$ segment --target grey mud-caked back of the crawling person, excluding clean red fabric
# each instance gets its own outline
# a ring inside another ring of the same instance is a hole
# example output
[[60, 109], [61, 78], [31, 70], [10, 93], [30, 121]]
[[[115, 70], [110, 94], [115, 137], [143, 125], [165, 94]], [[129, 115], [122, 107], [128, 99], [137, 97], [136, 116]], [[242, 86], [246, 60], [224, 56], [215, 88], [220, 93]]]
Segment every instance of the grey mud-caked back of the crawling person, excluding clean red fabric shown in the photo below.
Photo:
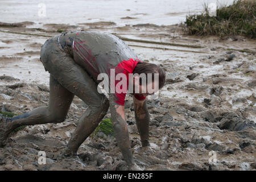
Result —
[[[122, 61], [138, 60], [137, 55], [123, 40], [105, 32], [68, 32], [59, 36], [59, 42], [96, 82], [99, 82], [98, 74], [107, 73], [110, 76], [110, 69], [117, 67]], [[121, 72], [122, 70], [118, 70], [117, 73]]]

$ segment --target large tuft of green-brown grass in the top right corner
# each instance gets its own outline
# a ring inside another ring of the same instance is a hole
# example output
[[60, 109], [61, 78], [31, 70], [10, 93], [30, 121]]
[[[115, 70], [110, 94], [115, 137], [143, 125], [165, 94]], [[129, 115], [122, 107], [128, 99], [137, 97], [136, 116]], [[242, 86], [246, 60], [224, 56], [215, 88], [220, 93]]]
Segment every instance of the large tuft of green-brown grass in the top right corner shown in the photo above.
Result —
[[243, 35], [256, 38], [256, 1], [237, 0], [233, 5], [217, 7], [217, 16], [209, 16], [207, 5], [204, 13], [188, 15], [183, 30], [189, 35]]

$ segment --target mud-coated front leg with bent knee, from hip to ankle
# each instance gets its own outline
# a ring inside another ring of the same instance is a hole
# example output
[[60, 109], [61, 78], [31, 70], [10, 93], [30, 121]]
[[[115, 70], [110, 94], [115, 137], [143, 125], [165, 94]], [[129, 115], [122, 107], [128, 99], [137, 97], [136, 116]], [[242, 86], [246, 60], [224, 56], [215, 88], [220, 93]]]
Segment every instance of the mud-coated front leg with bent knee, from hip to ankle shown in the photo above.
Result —
[[41, 61], [51, 75], [69, 92], [88, 105], [82, 115], [75, 132], [69, 140], [67, 154], [76, 154], [81, 143], [96, 129], [109, 109], [108, 98], [97, 91], [97, 84], [93, 78], [79, 64], [59, 46], [57, 36], [42, 46]]

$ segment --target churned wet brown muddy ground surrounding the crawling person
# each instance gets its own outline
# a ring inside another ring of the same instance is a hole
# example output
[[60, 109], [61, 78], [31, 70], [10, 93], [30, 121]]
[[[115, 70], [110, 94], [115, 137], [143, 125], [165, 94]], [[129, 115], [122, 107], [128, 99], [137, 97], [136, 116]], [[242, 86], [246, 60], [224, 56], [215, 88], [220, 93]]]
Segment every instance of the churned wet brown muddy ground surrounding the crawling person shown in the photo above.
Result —
[[[256, 169], [255, 40], [187, 36], [177, 25], [119, 27], [114, 22], [96, 22], [31, 28], [32, 24], [0, 27], [0, 111], [22, 114], [48, 104], [49, 74], [39, 54], [47, 36], [59, 34], [57, 30], [106, 31], [130, 39], [201, 46], [125, 41], [141, 60], [159, 64], [167, 73], [159, 97], [147, 101], [151, 150], [141, 151], [132, 100], [126, 97], [135, 161], [146, 170]], [[59, 158], [85, 110], [84, 102], [75, 97], [63, 123], [13, 132], [0, 148], [0, 170], [125, 170], [115, 138], [103, 133], [86, 139], [77, 157]], [[105, 118], [109, 117], [108, 113]], [[39, 151], [46, 151], [46, 165], [38, 164]], [[216, 160], [209, 162], [212, 154]]]

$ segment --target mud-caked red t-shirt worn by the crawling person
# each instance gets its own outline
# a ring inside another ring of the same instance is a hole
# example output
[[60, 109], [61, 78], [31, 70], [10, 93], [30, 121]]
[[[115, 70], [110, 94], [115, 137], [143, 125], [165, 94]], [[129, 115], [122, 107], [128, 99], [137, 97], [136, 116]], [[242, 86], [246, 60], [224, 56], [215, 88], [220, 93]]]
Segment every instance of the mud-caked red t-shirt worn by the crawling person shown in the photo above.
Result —
[[[114, 69], [115, 76], [118, 73], [126, 75], [128, 88], [129, 73], [133, 73], [140, 60], [123, 40], [112, 34], [96, 31], [75, 32], [72, 35], [73, 59], [92, 76], [94, 81], [101, 82], [101, 80], [97, 80], [100, 73], [106, 73], [110, 78], [110, 69]], [[117, 83], [118, 81], [115, 80], [115, 86]], [[126, 92], [127, 89], [122, 90], [121, 93], [114, 93], [115, 102], [118, 105], [125, 104]], [[138, 100], [145, 99], [137, 94], [134, 96]]]

